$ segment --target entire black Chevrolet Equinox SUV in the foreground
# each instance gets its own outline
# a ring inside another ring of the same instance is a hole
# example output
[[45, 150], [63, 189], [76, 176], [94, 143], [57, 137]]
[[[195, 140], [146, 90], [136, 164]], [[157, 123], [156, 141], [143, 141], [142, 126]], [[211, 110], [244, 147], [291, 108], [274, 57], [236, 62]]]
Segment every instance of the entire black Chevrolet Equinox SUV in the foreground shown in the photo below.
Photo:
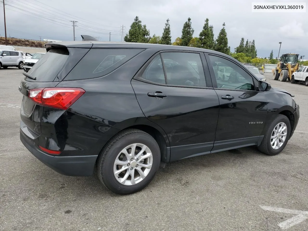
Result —
[[96, 169], [114, 193], [141, 190], [170, 161], [251, 145], [276, 155], [298, 124], [293, 95], [216, 51], [99, 41], [45, 47], [19, 86], [20, 139], [61, 174]]

